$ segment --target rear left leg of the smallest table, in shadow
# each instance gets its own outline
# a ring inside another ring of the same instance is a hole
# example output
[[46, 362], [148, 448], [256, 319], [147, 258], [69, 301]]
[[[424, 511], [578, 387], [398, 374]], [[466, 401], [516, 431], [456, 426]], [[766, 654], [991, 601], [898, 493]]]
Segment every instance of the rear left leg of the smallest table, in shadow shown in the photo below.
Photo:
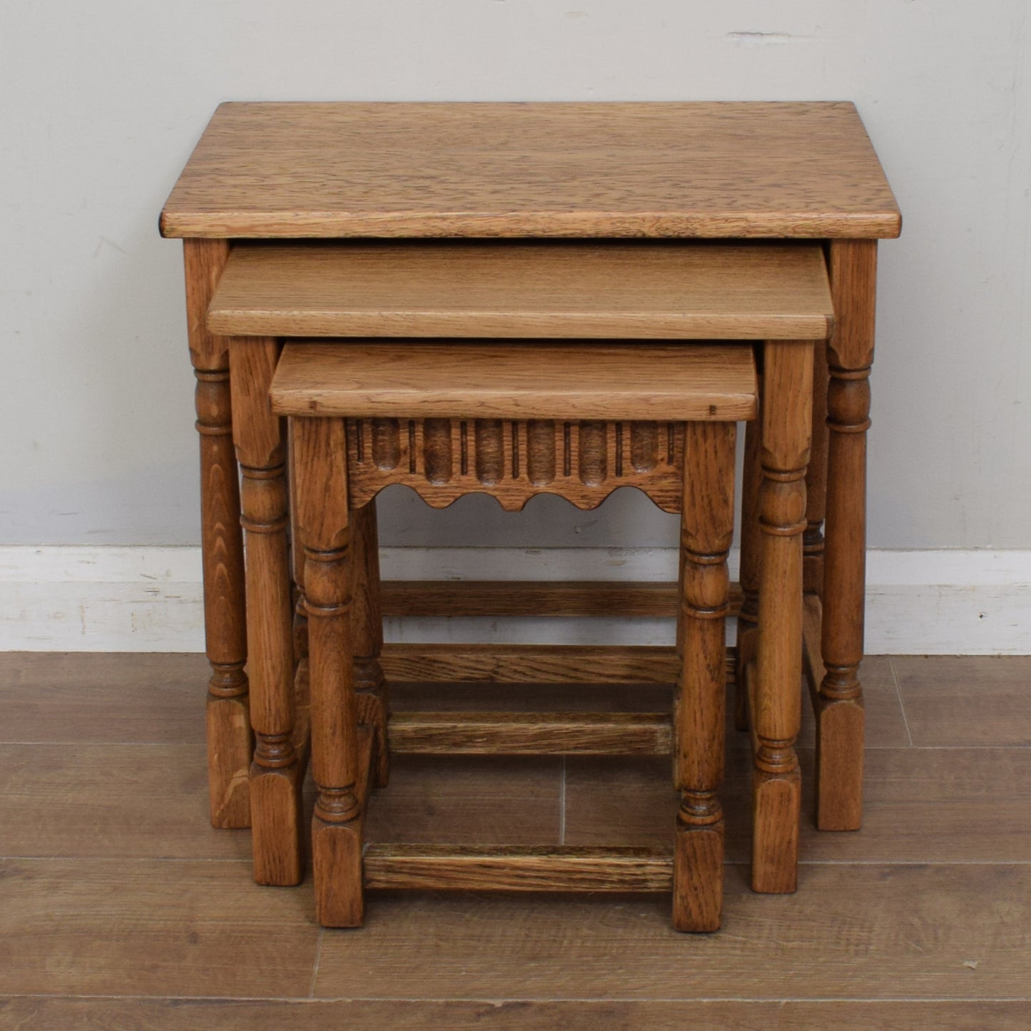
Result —
[[379, 542], [375, 499], [351, 513], [354, 558], [355, 691], [358, 718], [373, 728], [375, 787], [390, 779], [387, 747], [387, 681], [379, 653], [384, 646], [384, 621], [379, 607]]

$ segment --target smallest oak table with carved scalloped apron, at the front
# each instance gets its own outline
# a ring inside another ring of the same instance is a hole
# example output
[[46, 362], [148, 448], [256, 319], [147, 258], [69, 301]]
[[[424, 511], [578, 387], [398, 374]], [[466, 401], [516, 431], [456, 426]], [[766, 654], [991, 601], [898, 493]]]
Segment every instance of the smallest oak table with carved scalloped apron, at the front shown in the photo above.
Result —
[[[579, 391], [585, 397], [584, 410], [576, 408], [575, 400], [565, 401], [568, 407], [559, 409], [572, 409], [575, 415], [584, 417], [577, 435], [576, 467], [580, 485], [595, 486], [605, 479], [608, 445], [612, 441], [617, 446], [619, 473], [625, 457], [620, 447], [623, 436], [630, 441], [630, 461], [637, 458], [638, 452], [648, 452], [651, 463], [639, 463], [639, 467], [643, 465], [643, 472], [662, 477], [665, 473], [655, 454], [658, 440], [654, 432], [648, 437], [650, 448], [635, 450], [635, 424], [628, 424], [626, 432], [621, 433], [621, 424], [613, 429], [600, 421], [607, 415], [606, 406], [611, 403], [606, 388], [609, 383], [625, 379], [641, 369], [653, 375], [666, 368], [670, 369], [667, 375], [675, 369], [690, 373], [694, 358], [706, 359], [704, 350], [678, 350], [672, 366], [665, 365], [663, 351], [652, 347], [622, 348], [619, 364], [613, 360], [607, 366], [592, 354], [594, 348], [586, 348], [587, 355], [570, 353], [566, 357], [563, 357], [566, 348], [546, 350], [556, 354], [550, 363], [534, 363], [534, 375], [540, 379], [540, 370], [552, 375], [554, 367], [555, 378], [565, 388], [565, 394], [575, 397], [574, 392]], [[451, 355], [452, 351], [456, 354]], [[374, 361], [364, 352], [374, 353]], [[456, 357], [459, 352], [461, 361]], [[334, 356], [344, 353], [352, 358], [351, 362], [341, 366], [333, 361]], [[501, 419], [477, 418], [468, 426], [454, 417], [466, 410], [481, 411], [485, 392], [496, 390], [497, 381], [502, 378], [497, 374], [498, 363], [494, 358], [504, 358], [514, 370], [538, 353], [537, 348], [519, 344], [507, 348], [484, 344], [465, 348], [415, 347], [403, 343], [375, 348], [360, 344], [347, 348], [287, 344], [284, 350], [270, 399], [274, 411], [291, 418], [296, 524], [305, 553], [313, 769], [319, 786], [312, 833], [313, 866], [317, 909], [324, 926], [354, 927], [362, 923], [363, 868], [365, 887], [512, 886], [521, 890], [562, 891], [598, 890], [601, 885], [608, 885], [609, 890], [626, 890], [628, 886], [639, 888], [645, 882], [652, 884], [651, 874], [642, 880], [639, 856], [633, 857], [628, 867], [630, 857], [623, 854], [456, 852], [443, 846], [432, 855], [425, 850], [413, 855], [403, 847], [398, 851], [383, 845], [378, 851], [370, 851], [363, 844], [372, 747], [367, 745], [366, 754], [362, 755], [359, 737], [364, 733], [371, 740], [371, 729], [356, 692], [351, 640], [354, 577], [350, 570], [354, 563], [348, 555], [348, 541], [356, 536], [357, 513], [383, 487], [407, 483], [404, 477], [415, 473], [433, 486], [446, 484], [456, 477], [456, 465], [459, 476], [471, 468], [478, 489], [503, 498], [504, 453], [511, 456], [510, 472], [514, 479], [520, 475], [520, 452], [514, 442], [522, 436], [531, 440], [534, 427], [539, 428], [542, 420], [553, 417], [552, 410], [541, 408], [541, 397], [546, 392], [538, 384], [526, 381], [523, 409], [519, 413], [528, 418], [511, 422], [507, 447]], [[438, 357], [439, 362], [427, 361]], [[421, 376], [412, 378], [404, 404], [391, 407], [391, 375], [399, 364], [410, 364]], [[713, 366], [721, 369], [723, 383], [747, 398], [751, 413], [757, 400], [751, 351], [728, 348], [725, 360], [714, 362]], [[282, 386], [289, 385], [292, 377], [297, 378], [298, 368], [303, 370], [305, 381], [320, 392], [324, 413], [319, 418], [312, 418], [311, 388], [291, 391]], [[570, 374], [564, 377], [565, 369]], [[571, 375], [574, 369], [575, 377]], [[622, 376], [613, 378], [612, 372], [622, 372]], [[434, 377], [454, 392], [454, 399], [439, 409], [434, 408], [434, 404], [440, 403], [434, 399]], [[424, 389], [414, 389], [419, 381]], [[460, 385], [458, 390], [454, 387], [456, 383]], [[671, 507], [681, 512], [684, 556], [677, 612], [674, 733], [670, 735], [669, 725], [661, 714], [521, 713], [505, 719], [467, 712], [451, 719], [446, 714], [422, 713], [397, 720], [387, 734], [398, 752], [407, 745], [415, 752], [460, 754], [529, 751], [599, 754], [618, 752], [627, 745], [634, 753], [654, 754], [660, 745], [672, 743], [674, 783], [681, 790], [681, 805], [673, 857], [663, 861], [662, 885], [672, 886], [673, 924], [678, 930], [712, 931], [720, 926], [723, 898], [723, 818], [717, 793], [723, 778], [724, 629], [729, 608], [727, 554], [733, 534], [735, 424], [725, 415], [721, 418], [719, 395], [708, 390], [704, 376], [688, 374], [676, 386], [685, 397], [674, 398], [667, 405], [670, 414], [675, 418], [687, 404], [686, 399], [691, 398], [698, 418], [707, 421], [687, 421], [681, 417], [677, 420], [681, 424], [677, 432], [673, 424], [667, 424], [664, 448], [676, 473], [680, 495]], [[354, 400], [362, 392], [368, 392], [372, 399], [368, 410], [362, 410]], [[387, 400], [377, 400], [380, 398]], [[424, 415], [424, 404], [433, 418]], [[355, 409], [368, 418], [368, 426], [362, 419], [346, 418]], [[488, 414], [503, 418], [504, 412], [488, 411]], [[418, 422], [414, 415], [419, 417]], [[402, 420], [398, 417], [406, 417], [403, 420], [406, 434], [402, 433], [399, 425]], [[568, 437], [568, 422], [565, 428]], [[558, 436], [554, 426], [548, 429], [553, 439]], [[407, 453], [400, 446], [403, 437], [407, 438]], [[466, 451], [469, 437], [474, 441], [471, 455]], [[571, 455], [567, 447], [562, 461], [566, 476], [570, 474]], [[548, 465], [550, 475], [558, 476], [559, 461], [535, 463], [532, 442], [527, 456], [531, 488], [540, 481], [534, 472], [535, 465], [538, 470]], [[373, 479], [371, 488], [366, 484], [369, 476]], [[646, 478], [642, 489], [650, 490]], [[468, 490], [460, 484], [456, 496]], [[579, 502], [575, 487], [560, 485], [557, 490]]]

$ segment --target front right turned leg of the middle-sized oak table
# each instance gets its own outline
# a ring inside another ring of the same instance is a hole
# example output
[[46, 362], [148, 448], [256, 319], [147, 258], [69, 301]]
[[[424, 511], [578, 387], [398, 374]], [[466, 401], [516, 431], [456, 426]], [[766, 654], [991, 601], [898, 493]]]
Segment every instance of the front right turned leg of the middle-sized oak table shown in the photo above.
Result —
[[762, 559], [755, 728], [752, 887], [792, 892], [801, 777], [802, 533], [812, 404], [811, 341], [771, 341], [763, 377]]

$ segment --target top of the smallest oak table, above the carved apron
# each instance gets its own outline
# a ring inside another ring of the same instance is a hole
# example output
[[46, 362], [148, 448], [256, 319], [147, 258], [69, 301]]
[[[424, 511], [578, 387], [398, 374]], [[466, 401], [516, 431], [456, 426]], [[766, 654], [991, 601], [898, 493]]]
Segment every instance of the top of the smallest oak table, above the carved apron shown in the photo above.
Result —
[[[729, 345], [348, 341], [288, 343], [270, 398], [280, 414], [384, 421], [735, 422], [754, 418], [756, 390], [750, 351]], [[401, 428], [377, 429], [368, 450], [385, 468]]]

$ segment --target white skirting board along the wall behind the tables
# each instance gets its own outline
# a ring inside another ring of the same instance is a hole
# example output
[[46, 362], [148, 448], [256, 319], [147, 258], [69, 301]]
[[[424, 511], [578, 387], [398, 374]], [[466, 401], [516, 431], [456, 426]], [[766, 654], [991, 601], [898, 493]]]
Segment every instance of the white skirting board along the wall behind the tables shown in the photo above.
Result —
[[[387, 547], [385, 578], [666, 580], [672, 548]], [[731, 557], [736, 575], [736, 556]], [[392, 619], [395, 641], [668, 644], [653, 619]], [[0, 651], [200, 652], [197, 547], [0, 547]], [[871, 655], [1031, 654], [1031, 552], [871, 551]]]

